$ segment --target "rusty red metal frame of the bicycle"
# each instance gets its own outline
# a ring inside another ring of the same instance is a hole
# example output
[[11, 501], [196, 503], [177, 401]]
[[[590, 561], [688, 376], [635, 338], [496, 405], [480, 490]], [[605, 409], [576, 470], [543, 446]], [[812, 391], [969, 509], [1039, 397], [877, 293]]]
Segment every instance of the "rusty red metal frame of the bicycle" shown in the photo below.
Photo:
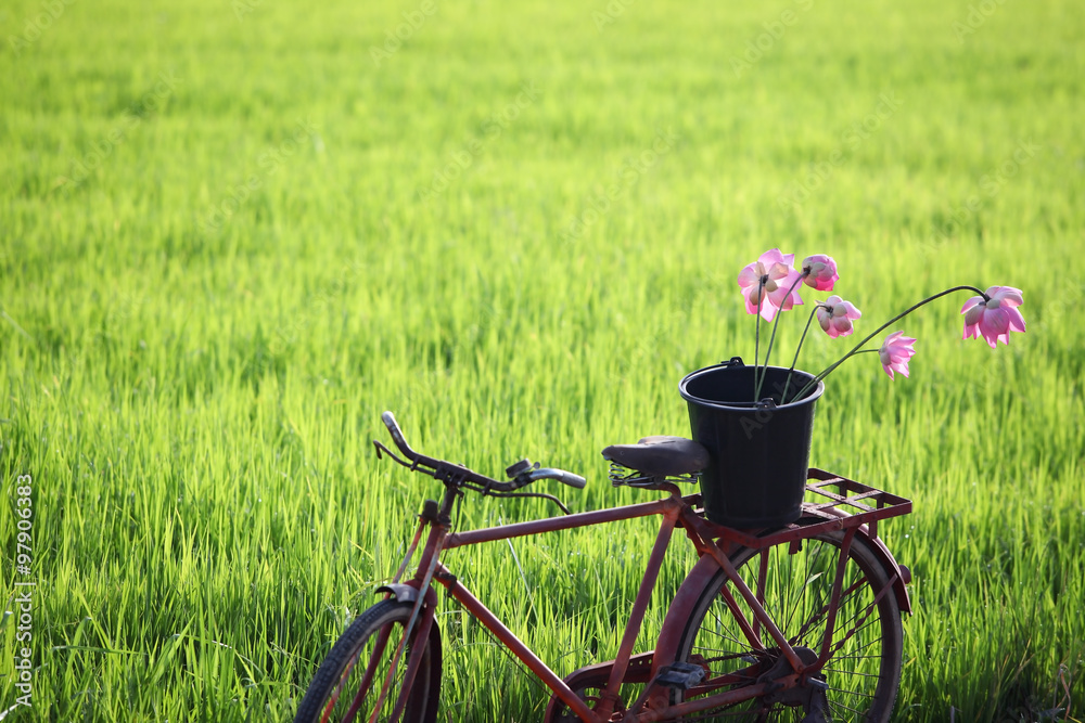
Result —
[[[414, 603], [414, 609], [408, 623], [408, 634], [404, 635], [395, 659], [398, 660], [403, 656], [407, 641], [411, 636], [409, 631], [413, 629], [416, 621], [418, 621], [419, 630], [414, 635], [422, 635], [418, 640], [425, 640], [424, 636], [429, 634], [429, 629], [433, 624], [433, 603], [435, 601], [432, 584], [436, 581], [550, 688], [571, 712], [584, 721], [593, 721], [597, 723], [610, 721], [618, 702], [618, 688], [623, 683], [648, 684], [637, 701], [629, 706], [629, 713], [623, 719], [638, 723], [673, 719], [688, 713], [741, 702], [764, 695], [769, 684], [745, 684], [722, 693], [704, 695], [694, 700], [671, 705], [668, 702], [667, 688], [652, 683], [660, 668], [675, 660], [682, 624], [689, 619], [697, 594], [703, 589], [705, 581], [716, 574], [717, 570], [722, 569], [730, 584], [723, 586], [720, 595], [752, 649], [765, 650], [767, 647], [775, 647], [779, 649], [782, 658], [787, 659], [791, 666], [793, 671], [791, 674], [778, 677], [771, 684], [776, 687], [780, 685], [784, 687], [801, 685], [809, 681], [810, 676], [825, 666], [835, 649], [839, 649], [843, 642], [847, 640], [847, 636], [843, 640], [838, 640], [835, 646], [833, 646], [832, 631], [834, 629], [833, 622], [840, 599], [842, 595], [846, 595], [850, 592], [843, 590], [844, 567], [850, 546], [856, 534], [861, 535], [868, 542], [872, 543], [870, 546], [876, 551], [879, 557], [878, 561], [886, 570], [890, 581], [885, 588], [877, 591], [868, 611], [886, 594], [896, 595], [902, 610], [910, 611], [910, 604], [905, 589], [905, 584], [909, 582], [910, 577], [908, 570], [897, 565], [884, 544], [877, 538], [878, 520], [909, 513], [911, 511], [910, 501], [819, 469], [810, 469], [809, 477], [812, 481], [807, 485], [808, 491], [815, 495], [828, 499], [828, 502], [804, 504], [804, 518], [807, 524], [803, 526], [791, 525], [768, 533], [762, 530], [736, 530], [707, 521], [697, 512], [700, 495], [694, 494], [684, 498], [680, 495], [678, 488], [673, 485], [667, 486], [668, 496], [654, 502], [463, 532], [450, 532], [450, 520], [447, 518], [447, 514], [438, 514], [436, 505], [430, 504], [426, 511], [420, 516], [414, 538], [393, 582], [381, 589], [399, 601]], [[827, 489], [830, 487], [835, 487], [838, 491], [832, 492]], [[446, 504], [443, 506], [444, 509], [447, 511], [450, 507], [449, 502], [446, 498]], [[871, 502], [876, 506], [868, 504]], [[852, 513], [848, 508], [856, 512]], [[661, 516], [662, 522], [648, 559], [643, 579], [633, 603], [628, 622], [618, 646], [617, 656], [609, 663], [592, 666], [589, 669], [590, 674], [597, 676], [597, 680], [601, 680], [600, 676], [603, 673], [607, 674], [605, 686], [602, 688], [599, 701], [593, 710], [576, 695], [571, 685], [571, 683], [575, 683], [577, 675], [583, 673], [584, 670], [574, 672], [565, 679], [559, 676], [558, 673], [551, 670], [525, 643], [516, 637], [482, 601], [441, 563], [442, 553], [457, 547], [636, 519], [649, 515]], [[809, 524], [810, 517], [818, 518], [819, 521]], [[421, 552], [417, 571], [409, 582], [404, 583], [401, 582], [403, 576], [414, 556], [423, 530], [426, 527], [430, 528], [430, 531]], [[689, 572], [672, 601], [655, 649], [649, 654], [634, 656], [633, 647], [640, 632], [651, 593], [662, 569], [665, 553], [671, 544], [675, 527], [682, 528], [701, 559]], [[730, 555], [742, 547], [763, 551], [784, 543], [791, 546], [800, 545], [805, 539], [835, 530], [843, 530], [844, 538], [837, 560], [832, 593], [829, 601], [822, 607], [828, 624], [826, 625], [818, 649], [817, 660], [806, 662], [799, 656], [788, 641], [788, 637], [780, 631], [776, 622], [765, 610], [767, 572], [765, 558], [763, 557], [762, 559], [757, 573], [756, 591], [754, 591], [751, 590], [738, 573], [730, 560]], [[737, 596], [731, 592], [732, 590], [738, 593]], [[742, 604], [739, 602], [740, 598]], [[745, 609], [743, 609], [743, 605]], [[765, 635], [770, 638], [770, 642], [765, 640]], [[397, 701], [394, 710], [393, 720], [396, 720], [401, 714], [406, 701], [406, 693], [410, 689], [414, 673], [420, 664], [422, 647], [414, 646], [409, 656], [406, 677], [401, 685], [400, 699]], [[395, 670], [395, 668], [394, 663], [392, 669]], [[719, 689], [722, 686], [737, 682], [738, 677], [736, 673], [730, 673], [723, 679], [705, 681], [692, 688], [691, 693], [709, 693], [710, 690]], [[386, 694], [386, 690], [387, 682], [382, 687], [382, 697]], [[650, 705], [646, 706], [649, 702]]]

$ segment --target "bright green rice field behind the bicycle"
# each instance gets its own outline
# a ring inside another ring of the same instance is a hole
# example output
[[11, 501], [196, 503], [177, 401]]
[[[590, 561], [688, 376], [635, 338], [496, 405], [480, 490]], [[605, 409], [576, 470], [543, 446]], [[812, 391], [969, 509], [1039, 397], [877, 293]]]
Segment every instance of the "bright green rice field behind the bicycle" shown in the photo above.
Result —
[[[690, 434], [678, 383], [752, 360], [736, 279], [777, 247], [863, 312], [813, 372], [927, 295], [1022, 289], [1008, 346], [957, 294], [890, 330], [909, 378], [848, 360], [810, 459], [915, 503], [879, 527], [914, 576], [895, 720], [1085, 719], [1083, 79], [1072, 0], [4, 2], [0, 719], [291, 720], [439, 492], [376, 460], [385, 410], [583, 474], [538, 488], [574, 511], [655, 499], [599, 451]], [[653, 535], [447, 563], [565, 674], [614, 656]], [[541, 718], [437, 620], [443, 721]]]

